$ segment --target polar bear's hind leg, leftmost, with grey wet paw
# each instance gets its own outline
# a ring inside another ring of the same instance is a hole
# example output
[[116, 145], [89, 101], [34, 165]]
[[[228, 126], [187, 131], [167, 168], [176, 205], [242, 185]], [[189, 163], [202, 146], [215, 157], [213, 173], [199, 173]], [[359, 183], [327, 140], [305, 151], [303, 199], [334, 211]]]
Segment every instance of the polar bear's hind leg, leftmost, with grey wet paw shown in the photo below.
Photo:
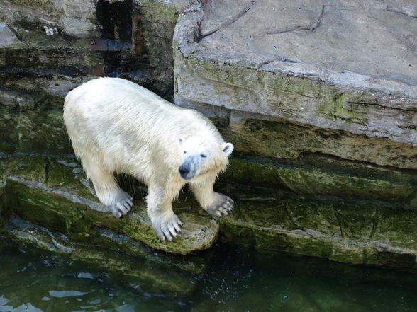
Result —
[[88, 156], [82, 157], [81, 161], [87, 177], [93, 182], [100, 202], [109, 206], [113, 215], [118, 218], [127, 214], [132, 207], [133, 198], [117, 185], [113, 172]]

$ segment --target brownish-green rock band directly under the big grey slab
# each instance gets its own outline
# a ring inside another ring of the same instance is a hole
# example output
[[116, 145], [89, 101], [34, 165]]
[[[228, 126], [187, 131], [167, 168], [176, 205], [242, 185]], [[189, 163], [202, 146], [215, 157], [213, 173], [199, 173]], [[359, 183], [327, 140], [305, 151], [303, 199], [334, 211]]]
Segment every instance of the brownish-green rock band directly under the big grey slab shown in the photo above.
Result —
[[321, 153], [347, 161], [417, 169], [416, 146], [387, 138], [234, 111], [230, 113], [230, 127], [223, 126], [222, 130], [238, 151], [259, 156], [299, 158], [306, 153]]

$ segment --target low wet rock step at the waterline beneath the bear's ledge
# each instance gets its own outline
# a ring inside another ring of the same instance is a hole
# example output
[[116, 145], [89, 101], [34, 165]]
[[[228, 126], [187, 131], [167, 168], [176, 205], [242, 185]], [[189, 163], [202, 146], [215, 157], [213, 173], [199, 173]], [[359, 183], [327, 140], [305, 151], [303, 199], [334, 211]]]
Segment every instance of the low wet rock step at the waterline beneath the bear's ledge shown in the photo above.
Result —
[[189, 294], [194, 288], [188, 279], [196, 272], [183, 270], [184, 265], [178, 265], [179, 262], [175, 259], [158, 259], [157, 255], [152, 258], [150, 252], [143, 256], [132, 256], [91, 244], [73, 243], [63, 234], [52, 233], [42, 226], [30, 224], [16, 216], [9, 221], [6, 229], [11, 236], [21, 241], [29, 241], [55, 253], [67, 254], [74, 260], [101, 265], [108, 274], [119, 275], [119, 278], [126, 282], [147, 283], [161, 291], [175, 295]]

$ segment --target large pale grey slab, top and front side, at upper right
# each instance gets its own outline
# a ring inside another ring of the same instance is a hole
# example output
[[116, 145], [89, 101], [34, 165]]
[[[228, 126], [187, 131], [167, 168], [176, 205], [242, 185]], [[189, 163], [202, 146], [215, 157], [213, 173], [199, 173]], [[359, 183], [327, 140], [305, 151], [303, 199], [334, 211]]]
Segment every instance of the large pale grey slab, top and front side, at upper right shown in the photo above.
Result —
[[174, 36], [177, 99], [416, 146], [416, 12], [406, 0], [194, 2]]

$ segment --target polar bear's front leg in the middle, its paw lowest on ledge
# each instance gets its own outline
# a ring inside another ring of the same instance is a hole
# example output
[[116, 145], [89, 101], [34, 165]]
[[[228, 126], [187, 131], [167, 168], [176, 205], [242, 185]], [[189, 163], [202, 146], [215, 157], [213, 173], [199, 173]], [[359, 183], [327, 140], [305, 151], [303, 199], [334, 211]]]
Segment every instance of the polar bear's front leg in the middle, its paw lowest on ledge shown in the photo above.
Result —
[[148, 216], [157, 236], [162, 241], [165, 239], [172, 241], [181, 233], [182, 222], [172, 211], [172, 200], [180, 189], [181, 187], [173, 192], [167, 192], [167, 188], [162, 185], [153, 183], [148, 185], [148, 196], [146, 197]]

